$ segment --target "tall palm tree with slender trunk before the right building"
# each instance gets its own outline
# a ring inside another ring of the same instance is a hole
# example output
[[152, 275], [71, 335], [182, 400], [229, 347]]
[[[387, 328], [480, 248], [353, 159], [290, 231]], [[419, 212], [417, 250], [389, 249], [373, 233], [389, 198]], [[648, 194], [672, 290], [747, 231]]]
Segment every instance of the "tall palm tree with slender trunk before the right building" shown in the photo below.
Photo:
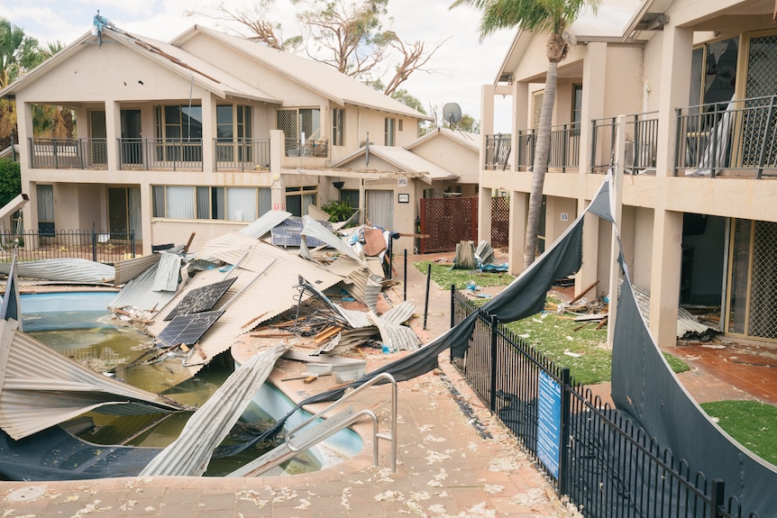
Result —
[[550, 32], [547, 43], [548, 72], [545, 76], [540, 126], [537, 129], [532, 189], [529, 194], [529, 214], [526, 221], [525, 269], [535, 261], [537, 250], [537, 232], [550, 151], [558, 64], [566, 58], [570, 48], [569, 43], [564, 39], [564, 31], [577, 19], [583, 7], [589, 5], [591, 9], [596, 10], [599, 2], [600, 0], [455, 0], [451, 5], [451, 8], [469, 5], [482, 13], [481, 41], [499, 29], [512, 28], [516, 25], [522, 31]]

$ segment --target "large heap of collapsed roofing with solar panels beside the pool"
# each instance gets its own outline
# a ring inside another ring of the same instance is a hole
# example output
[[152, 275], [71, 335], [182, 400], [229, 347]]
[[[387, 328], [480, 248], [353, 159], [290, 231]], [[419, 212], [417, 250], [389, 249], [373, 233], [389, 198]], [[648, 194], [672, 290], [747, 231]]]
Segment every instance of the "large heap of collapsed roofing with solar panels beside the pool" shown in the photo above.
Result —
[[[130, 381], [141, 376], [131, 371], [142, 369], [144, 378], [159, 379], [161, 392], [247, 340], [282, 341], [313, 355], [347, 355], [365, 344], [416, 350], [421, 341], [403, 325], [415, 306], [378, 314], [380, 292], [390, 282], [384, 273], [389, 239], [376, 227], [335, 230], [312, 216], [270, 211], [196, 253], [155, 254], [160, 260], [110, 304], [119, 318], [141, 324], [159, 348], [121, 376]], [[131, 269], [117, 265], [117, 271]]]

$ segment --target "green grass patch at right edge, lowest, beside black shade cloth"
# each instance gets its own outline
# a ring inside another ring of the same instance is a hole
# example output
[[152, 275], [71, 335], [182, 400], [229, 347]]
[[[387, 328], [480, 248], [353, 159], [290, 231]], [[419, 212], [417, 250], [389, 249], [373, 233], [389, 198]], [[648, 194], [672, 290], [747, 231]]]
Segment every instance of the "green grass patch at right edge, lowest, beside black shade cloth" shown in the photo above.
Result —
[[745, 448], [777, 465], [777, 407], [757, 401], [714, 401], [701, 408]]

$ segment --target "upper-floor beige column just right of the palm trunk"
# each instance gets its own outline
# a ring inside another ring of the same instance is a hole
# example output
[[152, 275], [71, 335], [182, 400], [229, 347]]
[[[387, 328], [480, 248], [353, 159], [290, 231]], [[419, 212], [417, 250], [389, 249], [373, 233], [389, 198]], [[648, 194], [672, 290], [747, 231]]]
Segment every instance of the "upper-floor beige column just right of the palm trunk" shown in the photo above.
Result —
[[583, 60], [583, 99], [580, 114], [580, 173], [583, 174], [590, 172], [593, 163], [591, 121], [605, 116], [606, 84], [607, 43], [591, 42], [586, 45], [586, 57]]

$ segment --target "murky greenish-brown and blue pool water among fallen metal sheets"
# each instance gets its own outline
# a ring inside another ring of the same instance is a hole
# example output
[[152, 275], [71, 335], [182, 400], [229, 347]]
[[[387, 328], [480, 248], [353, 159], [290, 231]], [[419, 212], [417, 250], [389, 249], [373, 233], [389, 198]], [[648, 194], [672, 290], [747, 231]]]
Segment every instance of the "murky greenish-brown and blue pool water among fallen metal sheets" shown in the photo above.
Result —
[[[123, 366], [140, 357], [152, 347], [154, 340], [146, 333], [114, 319], [107, 310], [115, 292], [62, 292], [56, 294], [21, 295], [21, 311], [24, 332], [33, 338], [75, 359], [87, 367], [101, 372], [116, 372], [122, 377]], [[74, 309], [76, 308], [76, 309]], [[132, 370], [132, 369], [130, 369]], [[187, 381], [164, 390], [163, 395], [180, 404], [197, 407], [215, 393], [233, 372], [231, 363], [211, 362]], [[155, 381], [146, 384], [142, 378], [127, 377], [134, 386], [157, 392]], [[149, 386], [144, 386], [149, 385]], [[268, 428], [287, 413], [293, 404], [277, 388], [264, 386], [261, 401], [251, 403], [243, 413], [242, 421]], [[268, 407], [269, 404], [269, 407]], [[268, 410], [265, 410], [265, 407]], [[95, 426], [79, 434], [85, 441], [96, 444], [126, 444], [161, 448], [178, 438], [191, 413], [113, 416], [103, 413], [87, 413]], [[304, 419], [306, 416], [294, 419]], [[293, 421], [293, 420], [292, 420]], [[293, 424], [292, 424], [293, 425]], [[233, 429], [225, 443], [247, 441], [250, 433]], [[283, 466], [288, 474], [315, 471], [322, 465], [339, 462], [361, 450], [362, 441], [350, 430], [339, 432], [326, 441], [330, 444], [310, 453], [297, 456]], [[240, 455], [228, 459], [213, 459], [206, 476], [222, 476], [239, 468], [270, 450], [274, 444], [257, 444]], [[334, 448], [330, 448], [334, 446]], [[330, 453], [329, 450], [334, 451]]]

